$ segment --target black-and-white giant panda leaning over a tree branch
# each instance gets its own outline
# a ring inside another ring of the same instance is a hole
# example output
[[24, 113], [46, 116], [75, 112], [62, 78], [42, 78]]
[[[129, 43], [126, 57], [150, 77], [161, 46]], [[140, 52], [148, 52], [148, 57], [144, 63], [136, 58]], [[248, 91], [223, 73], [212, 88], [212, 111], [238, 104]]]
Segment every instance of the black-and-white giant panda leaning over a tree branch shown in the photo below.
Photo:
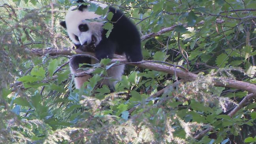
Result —
[[[78, 0], [77, 2], [83, 2], [83, 0]], [[98, 4], [101, 7], [107, 7], [105, 4]], [[125, 54], [129, 62], [141, 61], [143, 59], [141, 40], [136, 26], [119, 9], [110, 6], [108, 11], [113, 13], [110, 21], [113, 24], [113, 29], [109, 37], [106, 37], [107, 30], [102, 28], [103, 22], [86, 21], [87, 19], [101, 19], [100, 15], [97, 15], [94, 11], [89, 11], [86, 5], [71, 6], [66, 13], [65, 21], [60, 22], [60, 25], [66, 28], [68, 36], [78, 49], [84, 50], [84, 46], [93, 43], [95, 46], [93, 51], [98, 60], [113, 58], [113, 54]], [[70, 59], [71, 73], [81, 72], [79, 64], [83, 63], [95, 64], [95, 60], [85, 56], [72, 57]], [[106, 84], [110, 90], [113, 90], [123, 72], [124, 65], [109, 68], [107, 75], [114, 80], [104, 78], [101, 84]], [[76, 77], [74, 80], [75, 87], [81, 88], [83, 83], [90, 79], [90, 77], [90, 75]]]

